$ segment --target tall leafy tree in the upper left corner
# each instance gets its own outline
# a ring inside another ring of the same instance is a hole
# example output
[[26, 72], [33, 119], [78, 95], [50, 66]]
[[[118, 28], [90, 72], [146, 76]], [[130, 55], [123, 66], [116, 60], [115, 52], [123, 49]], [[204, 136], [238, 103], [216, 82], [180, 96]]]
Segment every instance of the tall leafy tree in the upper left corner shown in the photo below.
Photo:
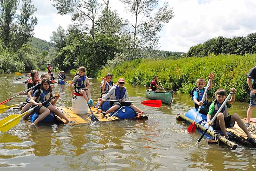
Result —
[[20, 14], [16, 14], [19, 3], [19, 0], [0, 1], [0, 38], [4, 49], [17, 51], [34, 34], [37, 19], [32, 14], [36, 8], [31, 0], [22, 0]]

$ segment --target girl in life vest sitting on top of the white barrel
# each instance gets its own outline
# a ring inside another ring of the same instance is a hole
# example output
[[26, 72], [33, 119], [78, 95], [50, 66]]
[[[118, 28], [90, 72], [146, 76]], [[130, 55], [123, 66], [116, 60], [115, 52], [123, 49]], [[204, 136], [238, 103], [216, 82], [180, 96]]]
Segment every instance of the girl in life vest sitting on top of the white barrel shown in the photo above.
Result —
[[78, 68], [78, 75], [76, 75], [71, 83], [69, 84], [69, 87], [71, 89], [71, 95], [74, 97], [74, 90], [72, 88], [72, 85], [74, 84], [75, 86], [75, 92], [78, 94], [82, 94], [84, 97], [84, 100], [89, 104], [89, 105], [94, 105], [92, 101], [92, 96], [91, 96], [91, 91], [88, 89], [90, 83], [88, 77], [85, 75], [85, 67], [81, 66]]

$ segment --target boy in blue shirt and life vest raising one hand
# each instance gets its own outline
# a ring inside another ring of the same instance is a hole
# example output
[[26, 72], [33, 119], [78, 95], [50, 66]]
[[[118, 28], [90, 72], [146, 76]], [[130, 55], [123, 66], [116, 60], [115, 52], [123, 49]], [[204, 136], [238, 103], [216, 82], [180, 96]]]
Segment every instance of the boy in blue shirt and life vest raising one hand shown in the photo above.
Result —
[[212, 88], [212, 79], [213, 79], [213, 77], [214, 77], [213, 73], [211, 73], [208, 77], [209, 80], [210, 80], [210, 85], [209, 85], [208, 88], [204, 87], [205, 86], [204, 78], [198, 78], [197, 81], [196, 81], [197, 87], [195, 87], [191, 92], [191, 97], [193, 99], [193, 103], [195, 104], [196, 112], [197, 112], [199, 106], [201, 106], [199, 113], [202, 113], [202, 114], [206, 115], [209, 111], [209, 109], [207, 107], [207, 103], [208, 103], [207, 93], [206, 93], [204, 99], [202, 99], [202, 98], [203, 98], [204, 91], [206, 90], [206, 88], [207, 88], [206, 92], [209, 89]]

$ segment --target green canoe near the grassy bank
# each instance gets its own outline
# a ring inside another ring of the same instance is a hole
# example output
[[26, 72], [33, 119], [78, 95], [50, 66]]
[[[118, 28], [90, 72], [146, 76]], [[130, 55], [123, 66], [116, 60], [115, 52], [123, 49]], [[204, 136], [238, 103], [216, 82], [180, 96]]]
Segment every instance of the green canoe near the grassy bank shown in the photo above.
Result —
[[174, 91], [148, 91], [146, 90], [146, 97], [153, 100], [162, 100], [162, 103], [165, 103], [167, 105], [170, 105], [172, 103], [172, 97], [173, 97]]

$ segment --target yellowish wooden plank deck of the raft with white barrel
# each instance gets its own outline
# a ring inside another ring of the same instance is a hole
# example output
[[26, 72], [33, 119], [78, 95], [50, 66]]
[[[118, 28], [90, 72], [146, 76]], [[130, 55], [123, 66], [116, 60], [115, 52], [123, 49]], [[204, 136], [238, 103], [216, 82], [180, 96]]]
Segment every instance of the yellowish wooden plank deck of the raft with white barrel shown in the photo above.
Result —
[[[75, 114], [72, 113], [71, 107], [60, 107], [60, 109], [63, 110], [63, 114], [71, 121], [74, 122], [74, 124], [79, 124], [79, 123], [88, 123], [92, 122], [91, 121], [91, 111], [88, 109], [89, 117], [87, 114]], [[119, 120], [118, 117], [112, 116], [112, 117], [106, 117], [102, 118], [100, 113], [97, 112], [97, 109], [94, 107], [91, 107], [92, 113], [99, 119], [100, 122], [103, 121], [113, 121], [113, 120]], [[63, 120], [63, 119], [62, 119]], [[64, 120], [65, 122], [65, 120]]]

